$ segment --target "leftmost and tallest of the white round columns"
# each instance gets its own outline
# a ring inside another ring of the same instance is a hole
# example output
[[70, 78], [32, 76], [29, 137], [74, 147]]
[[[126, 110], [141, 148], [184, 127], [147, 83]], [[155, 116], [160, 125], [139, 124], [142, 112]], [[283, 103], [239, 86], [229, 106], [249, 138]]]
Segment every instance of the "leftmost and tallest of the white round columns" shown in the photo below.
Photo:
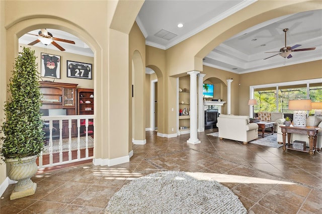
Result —
[[199, 71], [190, 71], [190, 138], [187, 143], [198, 144], [197, 132], [197, 74]]

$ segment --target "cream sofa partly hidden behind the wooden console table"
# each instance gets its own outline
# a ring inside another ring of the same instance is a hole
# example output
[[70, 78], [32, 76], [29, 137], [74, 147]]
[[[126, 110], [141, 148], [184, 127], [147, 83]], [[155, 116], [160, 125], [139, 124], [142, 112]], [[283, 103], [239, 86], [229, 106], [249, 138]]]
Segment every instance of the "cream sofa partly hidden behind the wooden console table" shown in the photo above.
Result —
[[[320, 127], [320, 129], [317, 132], [316, 149], [318, 151], [321, 150], [322, 149], [322, 116], [309, 116], [306, 119], [306, 126]], [[306, 142], [306, 146], [309, 147], [307, 135], [291, 134], [291, 143], [295, 140], [304, 141], [304, 142]], [[286, 138], [286, 141], [287, 141], [287, 138]], [[283, 142], [283, 140], [282, 140], [282, 142]]]

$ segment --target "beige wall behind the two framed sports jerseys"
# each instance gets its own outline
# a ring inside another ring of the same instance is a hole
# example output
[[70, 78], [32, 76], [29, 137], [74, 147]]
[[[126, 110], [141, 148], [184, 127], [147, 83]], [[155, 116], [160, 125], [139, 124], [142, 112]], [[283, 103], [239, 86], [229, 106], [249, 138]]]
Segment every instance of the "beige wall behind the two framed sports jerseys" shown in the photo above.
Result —
[[[62, 44], [62, 46], [63, 46], [63, 44]], [[94, 88], [94, 78], [95, 78], [94, 72], [93, 72], [92, 79], [67, 77], [67, 60], [92, 64], [92, 69], [93, 69], [94, 68], [94, 57], [67, 53], [64, 51], [59, 51], [58, 49], [57, 49], [57, 51], [51, 50], [51, 49], [45, 50], [45, 48], [30, 46], [30, 45], [23, 45], [23, 44], [19, 44], [19, 51], [22, 51], [22, 47], [27, 47], [32, 50], [35, 50], [35, 55], [37, 57], [36, 62], [38, 63], [38, 72], [39, 73], [40, 73], [40, 66], [41, 66], [41, 57], [40, 57], [41, 53], [48, 53], [48, 54], [60, 56], [60, 79], [42, 77], [42, 79], [44, 81], [46, 81], [46, 80], [53, 81], [54, 80], [55, 82], [76, 83], [76, 84], [78, 84], [77, 88]], [[39, 81], [41, 81], [41, 78], [39, 78]]]

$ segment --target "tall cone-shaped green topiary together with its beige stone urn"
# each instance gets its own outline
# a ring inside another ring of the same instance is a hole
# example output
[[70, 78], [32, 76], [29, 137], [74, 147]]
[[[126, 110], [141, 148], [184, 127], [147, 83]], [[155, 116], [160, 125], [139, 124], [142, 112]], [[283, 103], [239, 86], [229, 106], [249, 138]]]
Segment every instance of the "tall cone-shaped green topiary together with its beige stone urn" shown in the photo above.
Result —
[[4, 136], [0, 154], [10, 166], [9, 178], [18, 181], [10, 199], [32, 195], [37, 187], [30, 180], [38, 170], [36, 159], [44, 147], [37, 67], [35, 51], [24, 47], [15, 59], [8, 85], [10, 96], [1, 127]]

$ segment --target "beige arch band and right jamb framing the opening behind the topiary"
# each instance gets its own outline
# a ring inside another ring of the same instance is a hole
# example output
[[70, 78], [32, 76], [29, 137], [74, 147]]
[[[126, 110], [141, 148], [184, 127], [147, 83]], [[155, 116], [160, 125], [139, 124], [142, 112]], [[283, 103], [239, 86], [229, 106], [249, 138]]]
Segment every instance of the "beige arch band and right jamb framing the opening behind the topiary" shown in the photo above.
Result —
[[[55, 23], [55, 24], [51, 24]], [[97, 61], [100, 61], [99, 59], [101, 58], [100, 55], [97, 55], [96, 53], [100, 53], [100, 47], [98, 43], [93, 39], [93, 37], [89, 34], [89, 32], [85, 31], [82, 28], [79, 28], [76, 25], [73, 25], [72, 23], [62, 20], [61, 18], [43, 18], [43, 17], [33, 17], [32, 19], [25, 17], [22, 18], [20, 21], [15, 22], [14, 24], [10, 25], [10, 27], [6, 31], [6, 36], [7, 36], [7, 47], [6, 47], [6, 75], [5, 78], [1, 78], [1, 84], [2, 85], [7, 85], [10, 81], [11, 77], [11, 70], [12, 70], [12, 65], [14, 63], [14, 59], [18, 56], [19, 49], [19, 38], [32, 31], [35, 29], [40, 29], [40, 28], [52, 28], [52, 29], [58, 29], [62, 30], [65, 32], [68, 32], [70, 34], [73, 34], [82, 40], [86, 41], [86, 43], [91, 47], [91, 49], [94, 51], [95, 56], [94, 56], [94, 64], [97, 64], [96, 66], [93, 67], [93, 73], [95, 73], [93, 77], [94, 81], [94, 91], [98, 91], [96, 95], [99, 96], [101, 93], [101, 86], [98, 84], [97, 79], [101, 79], [100, 75], [102, 72], [102, 68], [100, 67], [101, 63], [97, 63]], [[26, 47], [29, 47], [26, 45]], [[30, 46], [31, 49], [32, 46]], [[40, 58], [40, 56], [37, 56]], [[66, 60], [66, 59], [63, 59]], [[39, 64], [39, 63], [38, 63]], [[2, 74], [2, 77], [4, 75]], [[8, 99], [8, 93], [4, 100]], [[96, 109], [95, 109], [95, 115], [100, 115], [100, 112], [102, 108], [100, 108], [100, 100], [95, 99], [94, 100]], [[97, 129], [94, 130], [95, 132], [95, 140], [94, 140], [94, 157], [100, 157], [102, 154], [99, 154], [97, 151], [102, 151], [100, 149], [102, 147], [102, 130], [99, 128], [100, 126], [98, 125], [100, 123], [100, 119], [95, 120], [95, 124], [97, 125]]]

